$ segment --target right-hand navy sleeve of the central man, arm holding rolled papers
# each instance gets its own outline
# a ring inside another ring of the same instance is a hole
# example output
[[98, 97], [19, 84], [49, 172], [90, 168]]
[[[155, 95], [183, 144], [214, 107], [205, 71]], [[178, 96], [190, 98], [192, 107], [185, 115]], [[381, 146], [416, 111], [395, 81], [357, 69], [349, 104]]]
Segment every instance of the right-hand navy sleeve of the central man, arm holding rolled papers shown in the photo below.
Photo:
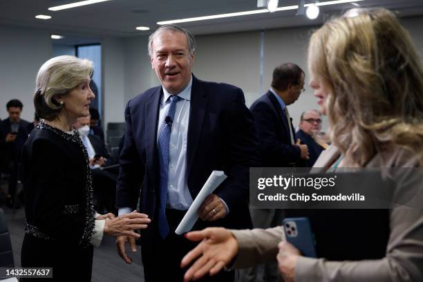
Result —
[[245, 106], [241, 89], [237, 89], [232, 99], [229, 117], [227, 123], [230, 165], [225, 170], [228, 178], [216, 190], [216, 194], [225, 201], [230, 212], [248, 203], [250, 167], [259, 166], [254, 120]]

